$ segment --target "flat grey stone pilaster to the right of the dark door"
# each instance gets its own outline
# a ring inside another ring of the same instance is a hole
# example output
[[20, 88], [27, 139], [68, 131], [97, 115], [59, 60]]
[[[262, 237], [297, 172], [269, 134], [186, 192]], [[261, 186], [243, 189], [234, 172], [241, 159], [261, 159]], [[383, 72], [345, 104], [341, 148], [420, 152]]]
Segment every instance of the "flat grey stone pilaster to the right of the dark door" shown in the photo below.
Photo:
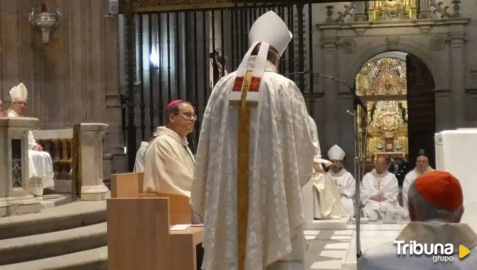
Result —
[[454, 126], [456, 128], [466, 127], [465, 123], [465, 28], [456, 25], [459, 29], [453, 29], [450, 33], [450, 66], [452, 75], [450, 76], [451, 95], [454, 100]]

